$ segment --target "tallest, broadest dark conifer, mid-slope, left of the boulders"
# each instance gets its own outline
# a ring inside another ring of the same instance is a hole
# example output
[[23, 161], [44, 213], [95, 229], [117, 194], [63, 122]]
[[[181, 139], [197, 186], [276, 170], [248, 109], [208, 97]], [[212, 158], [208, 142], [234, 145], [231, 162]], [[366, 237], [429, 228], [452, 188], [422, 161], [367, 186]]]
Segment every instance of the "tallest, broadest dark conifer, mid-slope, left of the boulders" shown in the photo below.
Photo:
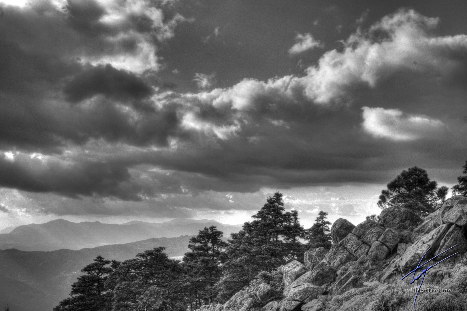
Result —
[[219, 301], [226, 301], [255, 278], [259, 271], [272, 271], [292, 259], [303, 262], [304, 237], [297, 211], [285, 212], [283, 195], [276, 192], [266, 204], [245, 222], [239, 233], [232, 234], [226, 248], [222, 278], [216, 284]]

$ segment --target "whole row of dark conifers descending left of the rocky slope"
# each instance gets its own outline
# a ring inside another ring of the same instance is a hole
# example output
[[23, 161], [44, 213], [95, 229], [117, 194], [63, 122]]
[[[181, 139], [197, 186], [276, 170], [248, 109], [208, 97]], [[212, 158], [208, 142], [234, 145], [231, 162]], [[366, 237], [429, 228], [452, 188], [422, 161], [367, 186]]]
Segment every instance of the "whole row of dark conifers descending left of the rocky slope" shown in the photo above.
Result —
[[296, 210], [285, 212], [282, 197], [279, 192], [269, 197], [228, 243], [215, 226], [200, 230], [182, 262], [170, 259], [163, 247], [124, 262], [98, 256], [54, 311], [195, 310], [225, 302], [261, 271], [271, 272], [293, 259], [303, 263], [311, 247], [330, 249], [327, 213], [320, 211], [315, 224], [304, 229]]

